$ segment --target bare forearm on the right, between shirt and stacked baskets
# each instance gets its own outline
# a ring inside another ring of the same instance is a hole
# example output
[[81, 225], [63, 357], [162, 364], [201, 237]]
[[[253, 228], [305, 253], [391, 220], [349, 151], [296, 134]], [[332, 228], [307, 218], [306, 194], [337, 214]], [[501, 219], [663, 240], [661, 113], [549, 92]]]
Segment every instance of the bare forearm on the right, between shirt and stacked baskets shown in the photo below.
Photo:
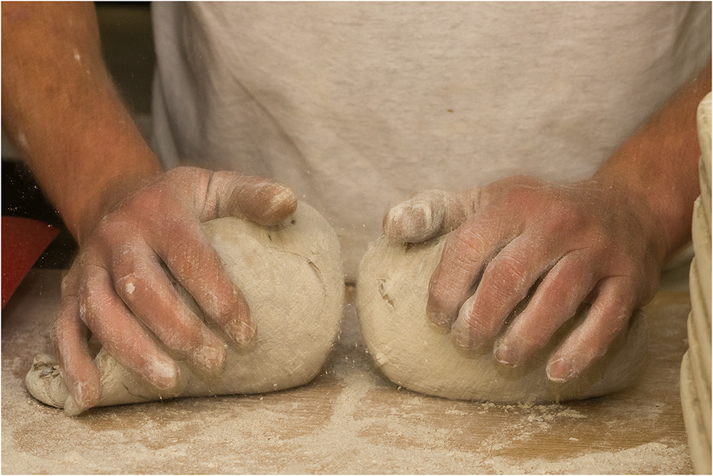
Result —
[[711, 63], [660, 113], [624, 143], [594, 178], [635, 192], [665, 234], [664, 258], [690, 241], [693, 202], [700, 193], [696, 112], [711, 90]]

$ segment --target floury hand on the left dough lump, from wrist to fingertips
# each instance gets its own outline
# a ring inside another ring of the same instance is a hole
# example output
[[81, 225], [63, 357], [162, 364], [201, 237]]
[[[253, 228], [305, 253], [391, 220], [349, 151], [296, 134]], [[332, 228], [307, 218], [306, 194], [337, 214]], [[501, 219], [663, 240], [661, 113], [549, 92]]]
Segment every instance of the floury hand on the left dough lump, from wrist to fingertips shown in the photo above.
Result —
[[165, 271], [183, 284], [237, 344], [255, 336], [240, 289], [223, 269], [201, 222], [237, 216], [272, 225], [297, 207], [285, 185], [237, 172], [180, 167], [107, 205], [82, 230], [80, 253], [63, 288], [54, 340], [78, 413], [101, 394], [88, 350], [89, 332], [123, 366], [160, 389], [178, 383], [179, 368], [160, 343], [216, 371], [225, 347], [176, 293]]

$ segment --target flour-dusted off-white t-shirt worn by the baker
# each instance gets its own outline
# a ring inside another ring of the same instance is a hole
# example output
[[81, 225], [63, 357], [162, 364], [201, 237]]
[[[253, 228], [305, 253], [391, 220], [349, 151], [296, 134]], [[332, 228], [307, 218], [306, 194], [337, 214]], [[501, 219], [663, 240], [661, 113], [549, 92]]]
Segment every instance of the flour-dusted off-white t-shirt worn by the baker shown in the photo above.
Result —
[[348, 278], [389, 207], [589, 177], [711, 56], [711, 4], [153, 4], [167, 167], [283, 182]]

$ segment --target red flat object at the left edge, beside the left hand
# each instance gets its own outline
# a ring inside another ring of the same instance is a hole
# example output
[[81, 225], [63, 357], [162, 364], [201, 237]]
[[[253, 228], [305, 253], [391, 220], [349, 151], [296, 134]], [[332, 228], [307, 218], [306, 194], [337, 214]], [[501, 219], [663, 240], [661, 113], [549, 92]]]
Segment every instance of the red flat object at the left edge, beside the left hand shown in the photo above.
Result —
[[34, 219], [2, 217], [2, 307], [59, 230]]

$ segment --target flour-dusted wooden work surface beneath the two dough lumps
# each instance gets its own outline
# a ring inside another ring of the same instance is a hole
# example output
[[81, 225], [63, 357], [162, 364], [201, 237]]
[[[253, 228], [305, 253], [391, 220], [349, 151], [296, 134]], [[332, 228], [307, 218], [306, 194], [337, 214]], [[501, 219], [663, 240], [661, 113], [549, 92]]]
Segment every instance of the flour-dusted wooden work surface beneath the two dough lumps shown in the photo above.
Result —
[[563, 405], [432, 398], [379, 376], [353, 289], [323, 373], [277, 393], [170, 400], [68, 418], [24, 386], [52, 353], [59, 271], [33, 271], [2, 313], [2, 472], [687, 473], [679, 399], [689, 296], [660, 291], [645, 314], [650, 362], [628, 390]]

